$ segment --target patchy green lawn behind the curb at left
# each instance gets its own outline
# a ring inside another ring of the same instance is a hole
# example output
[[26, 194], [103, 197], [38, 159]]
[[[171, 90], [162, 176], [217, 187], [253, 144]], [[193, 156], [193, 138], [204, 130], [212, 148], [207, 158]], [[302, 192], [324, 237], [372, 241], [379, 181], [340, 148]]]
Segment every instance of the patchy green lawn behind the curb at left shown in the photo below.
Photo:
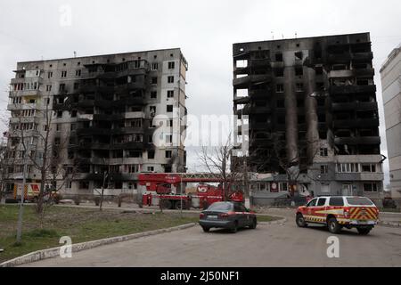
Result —
[[119, 209], [52, 207], [47, 209], [44, 227], [39, 228], [34, 207], [25, 206], [22, 243], [16, 246], [17, 205], [0, 205], [0, 262], [29, 252], [60, 246], [61, 236], [73, 243], [98, 240], [135, 232], [147, 232], [197, 222], [199, 215], [183, 213], [143, 214]]

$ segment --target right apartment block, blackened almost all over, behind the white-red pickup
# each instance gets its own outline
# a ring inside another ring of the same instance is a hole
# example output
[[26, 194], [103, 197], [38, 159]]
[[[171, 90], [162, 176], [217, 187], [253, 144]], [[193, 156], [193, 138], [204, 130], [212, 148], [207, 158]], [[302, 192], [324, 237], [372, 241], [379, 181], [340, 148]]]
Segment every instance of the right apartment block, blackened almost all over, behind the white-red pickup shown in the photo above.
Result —
[[247, 128], [250, 171], [272, 174], [251, 183], [256, 203], [286, 196], [289, 177], [305, 196], [379, 197], [372, 58], [369, 33], [233, 45], [239, 142]]

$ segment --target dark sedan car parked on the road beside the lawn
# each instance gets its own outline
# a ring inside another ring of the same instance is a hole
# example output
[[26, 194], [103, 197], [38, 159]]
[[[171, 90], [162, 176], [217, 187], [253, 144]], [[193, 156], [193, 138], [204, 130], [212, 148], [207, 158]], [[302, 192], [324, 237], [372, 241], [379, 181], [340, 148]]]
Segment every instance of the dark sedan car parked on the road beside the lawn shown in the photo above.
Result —
[[255, 229], [257, 217], [239, 202], [215, 202], [201, 212], [199, 224], [204, 232], [210, 228], [229, 229], [237, 232], [239, 228], [249, 226]]

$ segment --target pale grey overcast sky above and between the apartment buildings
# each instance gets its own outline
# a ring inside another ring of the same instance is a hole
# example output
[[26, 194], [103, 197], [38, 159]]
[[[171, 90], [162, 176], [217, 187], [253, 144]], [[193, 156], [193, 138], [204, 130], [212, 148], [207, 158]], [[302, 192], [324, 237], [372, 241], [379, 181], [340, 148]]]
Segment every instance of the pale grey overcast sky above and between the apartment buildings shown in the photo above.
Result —
[[[66, 6], [67, 5], [67, 6]], [[70, 25], [61, 17], [71, 10]], [[387, 155], [379, 69], [401, 42], [401, 4], [386, 1], [21, 1], [0, 2], [0, 107], [17, 61], [180, 47], [189, 63], [192, 114], [231, 114], [232, 44], [371, 32]], [[64, 23], [64, 24], [63, 24]], [[273, 32], [273, 33], [272, 33]], [[189, 153], [189, 167], [196, 158]], [[389, 181], [388, 161], [384, 163]]]

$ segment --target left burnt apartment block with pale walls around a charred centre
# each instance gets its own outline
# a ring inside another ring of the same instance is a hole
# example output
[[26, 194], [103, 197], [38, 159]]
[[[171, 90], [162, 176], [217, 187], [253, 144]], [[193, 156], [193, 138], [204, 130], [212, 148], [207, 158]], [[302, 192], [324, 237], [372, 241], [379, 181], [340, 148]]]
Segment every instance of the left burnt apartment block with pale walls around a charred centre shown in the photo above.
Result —
[[[49, 176], [64, 193], [92, 195], [104, 183], [106, 193], [119, 194], [135, 191], [139, 172], [185, 172], [187, 68], [179, 48], [18, 62], [8, 105], [9, 189], [22, 181], [24, 162], [27, 183], [41, 179], [24, 157], [22, 130], [39, 165], [49, 134], [63, 172], [49, 167]], [[155, 132], [163, 143], [153, 142]]]

